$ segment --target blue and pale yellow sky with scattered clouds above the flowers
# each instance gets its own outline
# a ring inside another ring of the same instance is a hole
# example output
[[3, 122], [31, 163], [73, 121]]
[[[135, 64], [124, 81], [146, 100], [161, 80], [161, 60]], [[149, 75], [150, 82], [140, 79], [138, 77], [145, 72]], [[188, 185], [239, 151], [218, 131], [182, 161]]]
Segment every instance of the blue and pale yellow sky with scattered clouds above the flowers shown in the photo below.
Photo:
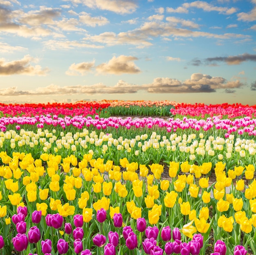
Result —
[[0, 102], [256, 104], [256, 0], [0, 0]]

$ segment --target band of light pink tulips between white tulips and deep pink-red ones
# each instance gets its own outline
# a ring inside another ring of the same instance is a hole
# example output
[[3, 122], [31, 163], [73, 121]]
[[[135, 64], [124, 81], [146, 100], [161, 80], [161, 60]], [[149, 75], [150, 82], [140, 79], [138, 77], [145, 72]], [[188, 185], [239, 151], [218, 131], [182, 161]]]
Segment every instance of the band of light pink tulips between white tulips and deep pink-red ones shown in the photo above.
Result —
[[45, 125], [61, 126], [63, 129], [66, 126], [75, 126], [78, 129], [83, 127], [94, 126], [97, 129], [106, 129], [107, 127], [119, 128], [124, 126], [127, 129], [132, 127], [141, 128], [147, 127], [152, 128], [153, 126], [158, 126], [159, 128], [166, 128], [167, 132], [172, 130], [175, 132], [177, 129], [195, 129], [196, 131], [202, 129], [208, 131], [211, 128], [215, 129], [225, 129], [227, 134], [233, 132], [238, 132], [238, 134], [248, 133], [249, 135], [256, 135], [256, 119], [251, 119], [249, 117], [244, 117], [235, 120], [220, 119], [214, 116], [213, 118], [207, 118], [206, 120], [197, 120], [192, 118], [184, 117], [183, 120], [170, 118], [169, 120], [164, 120], [161, 118], [99, 118], [99, 115], [95, 115], [95, 118], [90, 116], [74, 116], [73, 118], [65, 116], [60, 118], [57, 115], [36, 115], [35, 117], [2, 117], [0, 118], [0, 129], [1, 131], [6, 131], [7, 126], [11, 124], [16, 124], [16, 129], [20, 129], [20, 125], [35, 125], [37, 128], [43, 128]]

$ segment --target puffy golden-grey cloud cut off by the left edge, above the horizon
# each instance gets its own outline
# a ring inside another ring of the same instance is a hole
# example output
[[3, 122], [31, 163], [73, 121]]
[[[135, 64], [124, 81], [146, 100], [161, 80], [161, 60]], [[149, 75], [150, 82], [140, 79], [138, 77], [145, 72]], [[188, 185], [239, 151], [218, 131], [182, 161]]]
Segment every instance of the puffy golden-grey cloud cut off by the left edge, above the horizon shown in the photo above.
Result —
[[42, 69], [40, 65], [31, 65], [32, 62], [38, 62], [37, 59], [29, 55], [25, 55], [21, 60], [13, 60], [6, 62], [4, 58], [0, 58], [0, 75], [46, 75], [48, 68]]

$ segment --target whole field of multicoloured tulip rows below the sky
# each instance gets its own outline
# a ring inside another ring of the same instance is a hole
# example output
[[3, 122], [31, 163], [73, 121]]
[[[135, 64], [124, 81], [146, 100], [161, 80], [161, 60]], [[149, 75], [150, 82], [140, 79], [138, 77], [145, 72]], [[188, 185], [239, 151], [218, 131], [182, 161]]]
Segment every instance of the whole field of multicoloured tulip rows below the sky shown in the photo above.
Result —
[[256, 254], [256, 105], [0, 103], [0, 255]]

